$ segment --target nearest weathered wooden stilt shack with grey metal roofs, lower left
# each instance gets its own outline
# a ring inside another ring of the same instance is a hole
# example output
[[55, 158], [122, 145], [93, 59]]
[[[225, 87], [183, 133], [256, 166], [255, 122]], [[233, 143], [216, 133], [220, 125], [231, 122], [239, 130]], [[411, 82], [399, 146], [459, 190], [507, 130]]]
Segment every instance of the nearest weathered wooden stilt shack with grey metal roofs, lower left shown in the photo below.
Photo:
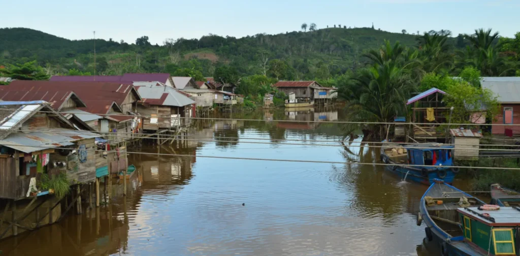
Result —
[[44, 174], [53, 180], [64, 173], [70, 185], [96, 179], [94, 138], [100, 135], [45, 101], [2, 101], [0, 110], [2, 239], [54, 223], [62, 214]]

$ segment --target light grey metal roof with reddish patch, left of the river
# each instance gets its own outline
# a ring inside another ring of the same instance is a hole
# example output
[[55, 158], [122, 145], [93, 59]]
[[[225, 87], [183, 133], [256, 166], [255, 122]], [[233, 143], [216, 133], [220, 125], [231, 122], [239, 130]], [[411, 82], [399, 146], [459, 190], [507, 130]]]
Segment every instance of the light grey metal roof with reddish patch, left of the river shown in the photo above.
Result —
[[150, 105], [184, 107], [195, 101], [169, 86], [139, 86], [138, 92], [142, 102]]

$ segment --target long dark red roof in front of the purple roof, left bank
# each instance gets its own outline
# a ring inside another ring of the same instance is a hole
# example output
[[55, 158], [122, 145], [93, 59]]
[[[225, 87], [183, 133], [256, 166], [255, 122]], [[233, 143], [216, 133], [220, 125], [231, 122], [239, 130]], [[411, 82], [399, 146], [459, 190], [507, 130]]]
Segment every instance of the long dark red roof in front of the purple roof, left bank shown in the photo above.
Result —
[[[52, 81], [24, 81], [15, 80], [9, 85], [0, 87], [0, 91], [19, 92], [74, 92], [88, 105], [88, 101], [103, 100], [115, 101], [121, 105], [129, 93], [134, 93], [139, 100], [141, 97], [132, 84], [109, 82], [52, 82]], [[54, 107], [53, 108], [57, 108]]]

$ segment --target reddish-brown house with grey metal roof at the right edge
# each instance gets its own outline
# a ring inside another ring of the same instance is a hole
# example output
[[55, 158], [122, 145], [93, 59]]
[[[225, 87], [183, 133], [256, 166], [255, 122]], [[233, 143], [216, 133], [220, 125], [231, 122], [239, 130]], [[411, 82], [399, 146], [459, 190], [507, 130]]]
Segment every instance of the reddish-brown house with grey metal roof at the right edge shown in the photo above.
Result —
[[500, 111], [493, 118], [491, 133], [493, 135], [518, 136], [520, 126], [500, 124], [520, 124], [520, 78], [482, 78], [482, 88], [489, 89], [498, 97]]

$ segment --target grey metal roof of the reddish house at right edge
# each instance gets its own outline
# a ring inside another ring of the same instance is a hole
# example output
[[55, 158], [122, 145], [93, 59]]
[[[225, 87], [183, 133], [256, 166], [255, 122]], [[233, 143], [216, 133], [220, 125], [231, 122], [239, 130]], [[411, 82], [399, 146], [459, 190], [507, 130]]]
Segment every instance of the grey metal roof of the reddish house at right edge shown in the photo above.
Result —
[[480, 84], [497, 95], [501, 103], [520, 103], [520, 78], [482, 78]]

